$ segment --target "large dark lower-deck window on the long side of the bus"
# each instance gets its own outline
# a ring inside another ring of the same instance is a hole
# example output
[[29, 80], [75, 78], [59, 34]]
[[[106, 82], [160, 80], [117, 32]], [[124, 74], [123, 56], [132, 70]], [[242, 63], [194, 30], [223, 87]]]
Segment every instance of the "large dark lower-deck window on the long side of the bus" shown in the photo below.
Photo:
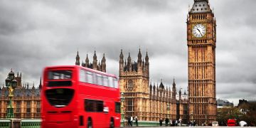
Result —
[[87, 111], [87, 112], [103, 112], [103, 101], [85, 99], [85, 111]]

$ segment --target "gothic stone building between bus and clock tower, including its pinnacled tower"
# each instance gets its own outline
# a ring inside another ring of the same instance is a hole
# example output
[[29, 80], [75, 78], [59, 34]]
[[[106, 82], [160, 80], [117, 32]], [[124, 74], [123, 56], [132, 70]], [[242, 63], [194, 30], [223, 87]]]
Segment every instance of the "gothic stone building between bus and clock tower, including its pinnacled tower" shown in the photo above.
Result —
[[142, 59], [140, 49], [137, 61], [132, 61], [130, 53], [124, 60], [121, 50], [119, 85], [120, 92], [124, 93], [126, 119], [128, 116], [137, 116], [139, 120], [158, 122], [160, 118], [166, 117], [172, 120], [187, 118], [185, 114], [188, 114], [188, 109], [184, 107], [187, 106], [187, 100], [181, 97], [176, 100], [175, 81], [172, 90], [165, 87], [162, 81], [159, 85], [149, 84], [149, 56], [146, 53], [145, 59]]

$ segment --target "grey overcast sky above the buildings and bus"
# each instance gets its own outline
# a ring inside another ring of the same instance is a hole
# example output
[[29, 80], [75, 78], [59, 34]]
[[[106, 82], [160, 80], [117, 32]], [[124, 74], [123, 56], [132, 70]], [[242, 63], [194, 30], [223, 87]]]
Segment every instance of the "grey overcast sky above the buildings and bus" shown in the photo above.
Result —
[[[256, 99], [256, 1], [209, 0], [217, 21], [217, 97]], [[150, 79], [188, 86], [186, 18], [193, 0], [0, 0], [0, 84], [11, 68], [38, 86], [44, 67], [94, 50], [118, 74], [119, 53], [149, 53]]]

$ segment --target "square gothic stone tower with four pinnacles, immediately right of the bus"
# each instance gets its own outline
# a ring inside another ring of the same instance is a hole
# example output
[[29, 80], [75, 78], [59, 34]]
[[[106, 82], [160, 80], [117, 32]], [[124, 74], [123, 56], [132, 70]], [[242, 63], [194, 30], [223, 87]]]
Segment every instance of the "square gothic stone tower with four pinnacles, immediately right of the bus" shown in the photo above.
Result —
[[146, 53], [145, 61], [139, 49], [137, 62], [132, 62], [129, 56], [119, 55], [119, 85], [124, 92], [124, 112], [126, 118], [138, 116], [139, 120], [148, 120], [149, 117], [149, 57]]

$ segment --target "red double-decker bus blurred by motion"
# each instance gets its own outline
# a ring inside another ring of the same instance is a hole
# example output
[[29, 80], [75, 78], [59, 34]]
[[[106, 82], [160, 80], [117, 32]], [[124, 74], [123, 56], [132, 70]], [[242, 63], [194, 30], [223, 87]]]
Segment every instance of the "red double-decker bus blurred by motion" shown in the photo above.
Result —
[[45, 127], [119, 127], [120, 94], [115, 75], [77, 65], [43, 71]]

